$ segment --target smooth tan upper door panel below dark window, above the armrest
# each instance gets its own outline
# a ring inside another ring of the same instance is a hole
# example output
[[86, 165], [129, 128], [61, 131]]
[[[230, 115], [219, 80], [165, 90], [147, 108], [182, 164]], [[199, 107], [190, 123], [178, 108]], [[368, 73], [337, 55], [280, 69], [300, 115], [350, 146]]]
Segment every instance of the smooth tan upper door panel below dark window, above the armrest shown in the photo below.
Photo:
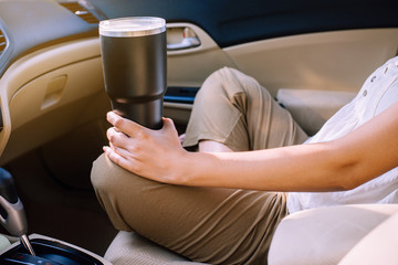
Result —
[[280, 88], [357, 92], [397, 54], [398, 30], [354, 30], [276, 38], [224, 49], [273, 95]]

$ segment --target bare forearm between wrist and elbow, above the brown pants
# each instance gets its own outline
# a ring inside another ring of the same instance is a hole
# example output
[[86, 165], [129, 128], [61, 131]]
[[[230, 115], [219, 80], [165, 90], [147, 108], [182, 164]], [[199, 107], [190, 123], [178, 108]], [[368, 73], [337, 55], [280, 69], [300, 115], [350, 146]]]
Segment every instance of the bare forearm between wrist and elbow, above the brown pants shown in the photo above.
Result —
[[[273, 191], [345, 189], [333, 142], [249, 152], [190, 153], [182, 184]], [[191, 166], [189, 166], [191, 165]]]

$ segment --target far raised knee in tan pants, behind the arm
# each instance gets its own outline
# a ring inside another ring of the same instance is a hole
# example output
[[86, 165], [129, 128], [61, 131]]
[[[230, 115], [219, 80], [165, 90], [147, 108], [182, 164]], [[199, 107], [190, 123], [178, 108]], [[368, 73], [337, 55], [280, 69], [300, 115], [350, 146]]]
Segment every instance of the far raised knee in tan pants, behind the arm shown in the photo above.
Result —
[[214, 140], [247, 151], [302, 144], [306, 138], [291, 114], [254, 78], [224, 67], [200, 88], [184, 144]]

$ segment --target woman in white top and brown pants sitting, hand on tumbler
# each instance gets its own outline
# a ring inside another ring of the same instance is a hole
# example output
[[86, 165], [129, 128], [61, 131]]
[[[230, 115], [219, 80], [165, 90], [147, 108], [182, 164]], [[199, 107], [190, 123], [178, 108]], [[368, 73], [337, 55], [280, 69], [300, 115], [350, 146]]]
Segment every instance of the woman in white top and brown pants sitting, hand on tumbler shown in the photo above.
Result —
[[169, 119], [153, 131], [108, 113], [109, 147], [92, 171], [98, 200], [116, 229], [193, 261], [266, 264], [289, 213], [398, 201], [397, 77], [395, 57], [310, 139], [266, 89], [230, 68], [196, 98], [184, 146], [198, 152], [180, 146]]

